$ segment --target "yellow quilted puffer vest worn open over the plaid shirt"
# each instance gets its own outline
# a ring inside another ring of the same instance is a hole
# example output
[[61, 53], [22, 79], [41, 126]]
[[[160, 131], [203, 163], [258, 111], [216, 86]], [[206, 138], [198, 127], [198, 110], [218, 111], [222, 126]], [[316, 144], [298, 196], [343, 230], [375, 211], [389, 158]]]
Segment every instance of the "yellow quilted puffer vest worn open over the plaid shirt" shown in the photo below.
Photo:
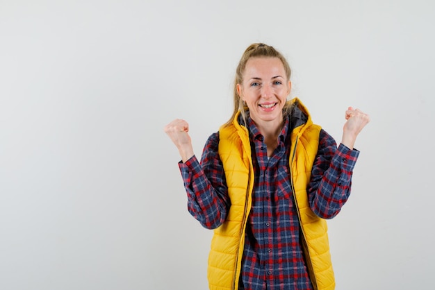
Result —
[[[304, 253], [313, 286], [318, 290], [335, 289], [334, 271], [329, 254], [327, 224], [309, 207], [306, 187], [318, 151], [320, 126], [311, 121], [308, 110], [293, 99], [308, 117], [291, 133], [290, 169], [293, 195], [302, 225]], [[208, 283], [211, 290], [237, 289], [245, 245], [245, 228], [252, 203], [254, 169], [247, 128], [240, 126], [238, 115], [231, 126], [220, 128], [219, 155], [224, 166], [231, 207], [226, 221], [213, 234], [208, 257]]]

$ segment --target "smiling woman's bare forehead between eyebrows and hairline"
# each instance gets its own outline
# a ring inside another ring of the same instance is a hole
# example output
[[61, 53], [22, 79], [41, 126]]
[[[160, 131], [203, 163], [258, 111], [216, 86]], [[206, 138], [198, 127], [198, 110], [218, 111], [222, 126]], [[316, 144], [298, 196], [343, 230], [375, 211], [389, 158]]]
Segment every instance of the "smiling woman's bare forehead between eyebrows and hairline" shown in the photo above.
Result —
[[249, 58], [246, 62], [244, 75], [247, 78], [261, 78], [261, 76], [282, 76], [285, 78], [286, 70], [279, 58]]

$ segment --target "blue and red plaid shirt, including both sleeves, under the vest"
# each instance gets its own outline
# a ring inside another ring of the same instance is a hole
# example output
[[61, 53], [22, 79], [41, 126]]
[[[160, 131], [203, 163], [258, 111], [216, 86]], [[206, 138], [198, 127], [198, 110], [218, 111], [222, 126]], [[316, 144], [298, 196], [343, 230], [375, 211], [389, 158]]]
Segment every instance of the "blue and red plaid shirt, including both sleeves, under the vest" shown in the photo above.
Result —
[[[290, 185], [288, 156], [290, 125], [285, 122], [278, 146], [268, 158], [263, 136], [249, 120], [254, 165], [252, 208], [245, 232], [239, 289], [313, 289], [302, 251], [299, 219]], [[193, 156], [179, 163], [188, 194], [188, 210], [205, 228], [224, 223], [231, 205], [217, 146], [219, 134], [211, 135], [199, 164]], [[350, 194], [352, 170], [359, 151], [320, 131], [318, 155], [307, 188], [311, 209], [331, 219]]]

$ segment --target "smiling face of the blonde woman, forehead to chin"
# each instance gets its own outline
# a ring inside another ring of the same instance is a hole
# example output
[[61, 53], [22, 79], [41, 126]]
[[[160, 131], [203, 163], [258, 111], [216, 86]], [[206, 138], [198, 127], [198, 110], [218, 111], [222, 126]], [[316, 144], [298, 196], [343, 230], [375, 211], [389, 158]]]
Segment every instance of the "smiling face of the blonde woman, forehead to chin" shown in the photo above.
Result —
[[290, 87], [290, 80], [279, 58], [249, 58], [243, 72], [243, 82], [237, 85], [237, 90], [258, 126], [279, 126]]

